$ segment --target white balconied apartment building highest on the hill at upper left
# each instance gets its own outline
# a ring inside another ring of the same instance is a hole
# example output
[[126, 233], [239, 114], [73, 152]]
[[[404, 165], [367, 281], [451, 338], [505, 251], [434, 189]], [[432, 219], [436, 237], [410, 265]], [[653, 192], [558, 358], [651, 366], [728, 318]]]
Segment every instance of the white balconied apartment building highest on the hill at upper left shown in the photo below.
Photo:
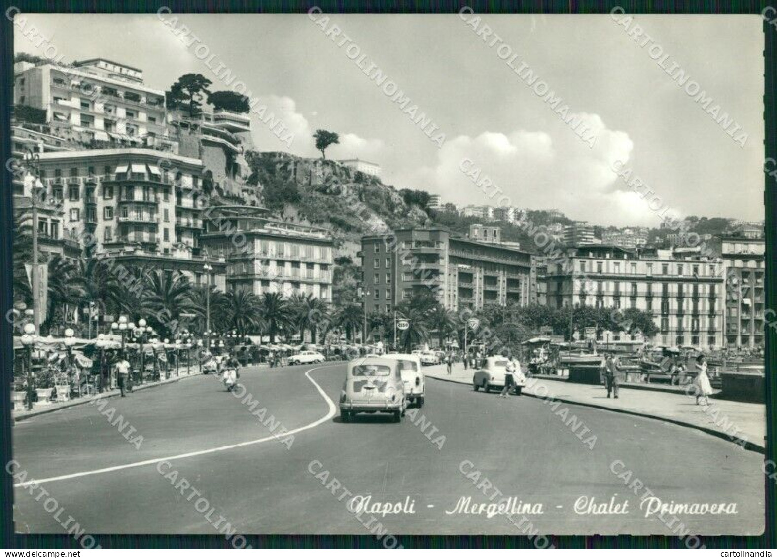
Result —
[[46, 110], [60, 124], [97, 142], [166, 135], [165, 92], [143, 83], [143, 71], [105, 58], [73, 67], [21, 62], [14, 67], [16, 105]]

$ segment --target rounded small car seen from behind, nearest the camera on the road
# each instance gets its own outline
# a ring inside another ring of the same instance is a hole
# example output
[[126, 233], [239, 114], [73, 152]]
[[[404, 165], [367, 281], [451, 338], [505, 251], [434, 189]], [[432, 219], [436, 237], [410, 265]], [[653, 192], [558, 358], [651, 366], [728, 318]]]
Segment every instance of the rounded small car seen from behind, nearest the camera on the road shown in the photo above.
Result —
[[394, 422], [405, 414], [405, 386], [400, 362], [387, 357], [358, 357], [348, 363], [340, 393], [340, 417], [348, 422], [356, 413], [391, 413]]

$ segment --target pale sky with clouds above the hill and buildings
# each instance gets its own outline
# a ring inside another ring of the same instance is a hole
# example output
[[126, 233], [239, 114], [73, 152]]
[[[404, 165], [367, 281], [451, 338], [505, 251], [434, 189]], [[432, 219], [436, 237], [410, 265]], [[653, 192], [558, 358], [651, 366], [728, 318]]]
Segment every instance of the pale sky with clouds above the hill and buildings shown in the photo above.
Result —
[[[189, 72], [229, 89], [211, 69], [221, 64], [288, 128], [278, 138], [253, 114], [256, 149], [316, 156], [312, 133], [336, 131], [340, 145], [327, 149], [329, 159], [376, 162], [385, 183], [443, 201], [558, 208], [598, 225], [655, 227], [665, 208], [764, 218], [759, 16], [639, 15], [628, 25], [608, 14], [465, 16], [469, 25], [455, 14], [16, 17], [48, 41], [36, 47], [17, 32], [17, 52], [43, 56], [52, 44], [66, 62], [108, 58], [141, 68], [157, 89]], [[333, 24], [350, 40], [343, 47], [343, 35], [325, 33]], [[530, 67], [595, 141], [580, 138], [508, 67], [500, 58], [507, 47], [497, 54], [502, 43], [489, 47], [476, 34], [483, 24], [517, 55], [514, 67]], [[176, 35], [182, 25], [197, 37], [189, 47], [191, 35]], [[634, 25], [650, 35], [647, 47], [629, 37]], [[676, 63], [713, 98], [708, 108], [720, 105], [740, 125], [744, 147], [651, 58], [653, 44], [668, 55], [664, 68]], [[357, 66], [361, 56], [363, 68], [377, 65], [411, 99], [406, 109], [416, 105], [438, 127], [437, 142]], [[281, 141], [289, 133], [291, 147]], [[654, 194], [641, 197], [615, 169]], [[483, 178], [493, 187], [479, 187]]]

